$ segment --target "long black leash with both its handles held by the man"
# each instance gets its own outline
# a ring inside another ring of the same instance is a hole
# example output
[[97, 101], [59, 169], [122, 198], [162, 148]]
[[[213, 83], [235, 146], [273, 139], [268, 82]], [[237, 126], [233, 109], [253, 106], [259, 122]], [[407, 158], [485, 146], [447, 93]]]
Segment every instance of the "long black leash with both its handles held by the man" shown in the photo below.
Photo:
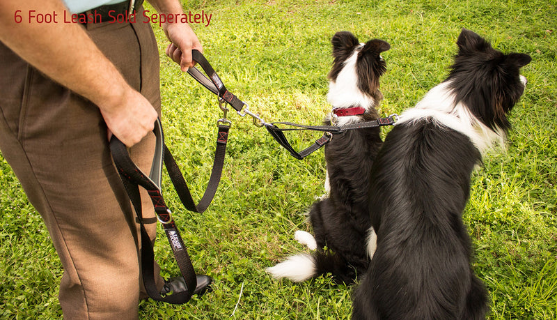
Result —
[[[145, 284], [146, 291], [150, 298], [173, 304], [187, 303], [187, 301], [191, 299], [191, 294], [193, 294], [196, 289], [197, 280], [194, 267], [191, 264], [189, 254], [187, 253], [186, 247], [182, 241], [180, 232], [178, 231], [175, 221], [172, 218], [171, 211], [164, 203], [164, 198], [162, 197], [161, 178], [163, 162], [166, 166], [168, 176], [170, 176], [174, 188], [178, 193], [178, 197], [180, 197], [180, 201], [182, 201], [185, 208], [196, 213], [203, 213], [203, 211], [205, 211], [210, 205], [215, 193], [217, 192], [226, 154], [228, 131], [230, 130], [231, 123], [228, 119], [226, 119], [226, 112], [228, 109], [223, 107], [222, 103], [227, 102], [230, 106], [237, 110], [238, 114], [242, 116], [251, 114], [247, 109], [247, 105], [226, 89], [220, 77], [214, 72], [214, 69], [207, 59], [205, 59], [203, 54], [197, 50], [193, 50], [192, 54], [194, 61], [198, 62], [199, 65], [203, 67], [203, 70], [207, 73], [209, 78], [205, 77], [205, 75], [203, 75], [203, 73], [196, 68], [190, 68], [188, 70], [189, 75], [205, 86], [206, 89], [219, 96], [219, 105], [224, 111], [223, 118], [217, 121], [219, 128], [217, 135], [217, 148], [214, 153], [211, 176], [209, 178], [209, 182], [207, 183], [205, 193], [203, 194], [203, 197], [201, 197], [201, 201], [199, 201], [198, 204], [195, 204], [193, 197], [191, 197], [191, 192], [189, 191], [184, 176], [182, 176], [182, 172], [180, 172], [178, 164], [175, 162], [172, 153], [164, 144], [162, 125], [159, 119], [157, 119], [155, 129], [153, 130], [157, 142], [155, 146], [155, 156], [153, 158], [149, 176], [143, 174], [143, 172], [136, 167], [134, 162], [131, 160], [130, 155], [127, 153], [125, 144], [120, 142], [120, 140], [114, 136], [110, 141], [110, 148], [114, 163], [118, 169], [118, 173], [120, 174], [120, 178], [123, 181], [127, 194], [132, 201], [132, 205], [134, 206], [134, 210], [140, 224], [143, 284]], [[242, 109], [244, 109], [244, 114], [241, 113]], [[153, 253], [152, 243], [143, 222], [141, 197], [139, 195], [140, 185], [142, 188], [147, 190], [155, 208], [157, 219], [164, 227], [166, 237], [171, 245], [178, 268], [180, 268], [180, 273], [182, 273], [182, 277], [185, 279], [187, 290], [184, 292], [174, 293], [169, 296], [161, 296], [155, 286], [155, 274], [153, 270], [155, 254]]]

